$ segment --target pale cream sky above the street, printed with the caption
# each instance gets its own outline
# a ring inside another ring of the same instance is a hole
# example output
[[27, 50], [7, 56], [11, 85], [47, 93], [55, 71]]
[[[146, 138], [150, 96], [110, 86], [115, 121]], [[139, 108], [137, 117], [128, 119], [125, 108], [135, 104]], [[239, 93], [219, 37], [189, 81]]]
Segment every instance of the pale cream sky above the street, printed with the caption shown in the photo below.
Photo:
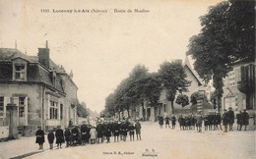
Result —
[[[184, 59], [199, 17], [220, 1], [0, 0], [0, 47], [15, 48], [17, 41], [20, 51], [36, 56], [48, 40], [50, 58], [73, 72], [79, 101], [99, 113], [135, 65], [157, 72], [164, 61]], [[89, 13], [74, 13], [83, 9]]]

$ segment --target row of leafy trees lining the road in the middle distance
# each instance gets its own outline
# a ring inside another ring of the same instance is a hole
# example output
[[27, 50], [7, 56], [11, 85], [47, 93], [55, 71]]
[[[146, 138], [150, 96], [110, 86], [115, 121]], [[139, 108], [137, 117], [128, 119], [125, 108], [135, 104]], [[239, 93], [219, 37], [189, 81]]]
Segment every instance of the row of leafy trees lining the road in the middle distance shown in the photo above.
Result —
[[167, 90], [167, 99], [171, 101], [174, 113], [175, 95], [186, 91], [188, 84], [180, 61], [163, 62], [158, 73], [149, 73], [144, 65], [137, 65], [129, 77], [123, 79], [114, 92], [106, 97], [104, 113], [112, 116], [124, 110], [135, 110], [145, 102], [147, 105], [157, 106], [162, 89]]

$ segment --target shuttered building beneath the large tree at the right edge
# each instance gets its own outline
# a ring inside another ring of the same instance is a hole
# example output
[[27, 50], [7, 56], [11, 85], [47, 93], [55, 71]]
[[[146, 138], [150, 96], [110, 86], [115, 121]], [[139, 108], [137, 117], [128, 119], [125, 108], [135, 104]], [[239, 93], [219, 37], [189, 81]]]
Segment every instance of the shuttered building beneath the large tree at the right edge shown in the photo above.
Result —
[[238, 61], [224, 79], [223, 109], [255, 111], [255, 62]]

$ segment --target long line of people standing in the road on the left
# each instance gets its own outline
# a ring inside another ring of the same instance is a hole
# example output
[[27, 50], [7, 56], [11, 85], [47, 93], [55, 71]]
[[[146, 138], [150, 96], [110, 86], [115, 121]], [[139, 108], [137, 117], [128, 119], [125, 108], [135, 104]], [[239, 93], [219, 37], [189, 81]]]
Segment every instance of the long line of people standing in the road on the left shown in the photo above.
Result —
[[[134, 135], [136, 133], [137, 140], [141, 140], [141, 124], [138, 120], [135, 123], [128, 120], [119, 121], [101, 121], [96, 123], [96, 126], [92, 126], [89, 123], [83, 122], [81, 126], [69, 126], [64, 131], [60, 126], [55, 131], [50, 130], [47, 133], [47, 139], [50, 149], [53, 149], [54, 139], [56, 140], [57, 149], [62, 148], [62, 144], [66, 142], [66, 147], [110, 142], [111, 136], [114, 142], [119, 140], [126, 141], [127, 135], [130, 136], [130, 141], [134, 141]], [[54, 134], [55, 132], [55, 134]], [[35, 143], [38, 143], [39, 149], [43, 149], [44, 132], [38, 127], [35, 132]]]

